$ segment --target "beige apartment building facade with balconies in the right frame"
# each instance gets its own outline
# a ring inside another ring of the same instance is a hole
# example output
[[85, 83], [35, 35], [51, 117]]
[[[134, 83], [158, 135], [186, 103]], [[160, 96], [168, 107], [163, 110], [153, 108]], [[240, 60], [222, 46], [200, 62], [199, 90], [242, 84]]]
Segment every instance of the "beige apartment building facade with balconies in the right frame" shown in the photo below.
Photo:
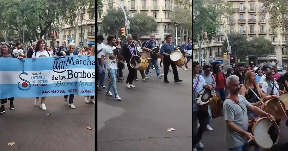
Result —
[[[287, 30], [273, 29], [271, 27], [269, 12], [263, 12], [263, 0], [225, 0], [225, 2], [233, 4], [233, 7], [236, 9], [229, 12], [228, 18], [219, 19], [219, 25], [216, 30], [224, 30], [227, 34], [243, 34], [247, 37], [247, 40], [251, 40], [257, 36], [269, 39], [274, 45], [275, 50], [268, 56], [260, 54], [258, 64], [275, 64], [278, 62], [283, 67], [287, 67]], [[195, 45], [193, 60], [201, 64], [212, 63], [213, 61], [225, 63], [222, 48], [224, 39], [224, 33], [218, 32], [209, 45], [206, 56], [204, 56], [203, 49], [199, 51], [198, 45]], [[203, 48], [203, 45], [201, 47]], [[242, 62], [247, 65], [258, 65], [255, 60], [255, 56], [251, 55], [248, 58], [240, 56], [237, 61], [235, 61], [235, 56], [230, 56], [231, 64]]]

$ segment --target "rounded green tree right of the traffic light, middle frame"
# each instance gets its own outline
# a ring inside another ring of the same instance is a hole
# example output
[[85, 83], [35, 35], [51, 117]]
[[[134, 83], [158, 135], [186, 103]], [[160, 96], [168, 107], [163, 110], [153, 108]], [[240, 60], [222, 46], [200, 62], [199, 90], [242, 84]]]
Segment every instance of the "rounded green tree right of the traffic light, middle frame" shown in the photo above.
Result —
[[130, 18], [131, 33], [137, 33], [138, 38], [142, 34], [151, 34], [157, 29], [158, 23], [152, 16], [146, 13], [136, 13], [134, 17]]

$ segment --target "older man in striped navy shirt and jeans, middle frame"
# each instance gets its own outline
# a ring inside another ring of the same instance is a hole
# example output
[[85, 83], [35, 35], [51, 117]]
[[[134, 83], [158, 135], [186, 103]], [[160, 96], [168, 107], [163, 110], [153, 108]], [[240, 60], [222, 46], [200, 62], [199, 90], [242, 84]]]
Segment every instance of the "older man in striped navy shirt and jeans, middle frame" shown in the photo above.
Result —
[[148, 51], [148, 53], [150, 54], [151, 58], [152, 58], [152, 61], [151, 63], [149, 64], [148, 68], [146, 69], [145, 71], [145, 74], [146, 74], [146, 77], [150, 77], [149, 75], [149, 70], [152, 66], [152, 64], [154, 65], [155, 67], [155, 71], [156, 71], [156, 75], [157, 75], [157, 78], [161, 78], [164, 76], [164, 74], [160, 74], [160, 70], [159, 70], [159, 67], [158, 67], [158, 58], [152, 54], [152, 49], [157, 46], [158, 44], [156, 43], [156, 40], [155, 40], [155, 35], [154, 34], [151, 34], [150, 35], [150, 40], [149, 41], [146, 41], [144, 47], [143, 47], [143, 51]]

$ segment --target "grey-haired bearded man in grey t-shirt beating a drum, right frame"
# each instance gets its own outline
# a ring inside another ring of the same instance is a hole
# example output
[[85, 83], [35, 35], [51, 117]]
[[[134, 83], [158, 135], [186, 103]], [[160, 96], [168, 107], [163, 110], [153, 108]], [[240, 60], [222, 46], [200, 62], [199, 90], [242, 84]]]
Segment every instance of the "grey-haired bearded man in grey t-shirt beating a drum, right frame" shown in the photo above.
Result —
[[248, 140], [253, 140], [253, 135], [248, 131], [248, 115], [250, 110], [261, 117], [267, 117], [274, 122], [275, 118], [253, 106], [245, 97], [239, 95], [240, 83], [236, 75], [227, 78], [227, 85], [230, 94], [223, 104], [224, 120], [226, 121], [225, 140], [228, 151], [246, 151]]

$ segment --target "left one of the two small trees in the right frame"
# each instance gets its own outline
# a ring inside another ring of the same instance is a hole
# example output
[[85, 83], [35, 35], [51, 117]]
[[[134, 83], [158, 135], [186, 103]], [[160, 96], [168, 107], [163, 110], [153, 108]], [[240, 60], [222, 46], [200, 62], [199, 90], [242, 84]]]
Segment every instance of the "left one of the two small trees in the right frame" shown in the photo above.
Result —
[[[252, 48], [250, 43], [247, 41], [246, 36], [242, 34], [228, 34], [229, 45], [231, 46], [232, 54], [235, 54], [235, 60], [239, 58], [240, 55], [248, 55]], [[227, 40], [223, 40], [223, 50], [227, 51]]]

